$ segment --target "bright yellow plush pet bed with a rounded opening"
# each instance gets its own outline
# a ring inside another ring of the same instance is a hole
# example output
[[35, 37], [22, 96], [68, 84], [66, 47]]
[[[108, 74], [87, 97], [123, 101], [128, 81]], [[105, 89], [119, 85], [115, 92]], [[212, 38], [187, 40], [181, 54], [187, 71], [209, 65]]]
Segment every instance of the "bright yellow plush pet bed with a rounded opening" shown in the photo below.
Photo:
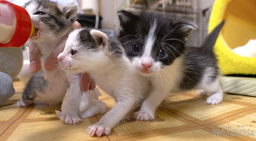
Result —
[[225, 25], [214, 47], [222, 73], [256, 75], [256, 57], [242, 57], [232, 51], [256, 38], [256, 1], [215, 0], [209, 32], [223, 19]]

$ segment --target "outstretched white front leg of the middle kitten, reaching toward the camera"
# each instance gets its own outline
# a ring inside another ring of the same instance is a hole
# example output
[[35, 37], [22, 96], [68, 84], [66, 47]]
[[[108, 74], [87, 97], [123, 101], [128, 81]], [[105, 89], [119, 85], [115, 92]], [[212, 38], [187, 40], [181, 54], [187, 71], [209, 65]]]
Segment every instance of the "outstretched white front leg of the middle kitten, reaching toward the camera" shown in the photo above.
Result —
[[[122, 90], [125, 91], [125, 90]], [[109, 135], [111, 132], [111, 129], [114, 128], [119, 121], [121, 121], [124, 116], [132, 109], [132, 107], [135, 104], [135, 98], [131, 95], [128, 97], [126, 94], [120, 94], [124, 95], [125, 98], [119, 97], [117, 98], [118, 101], [116, 105], [106, 113], [99, 122], [90, 125], [86, 130], [89, 135], [91, 136], [102, 136], [102, 135]]]

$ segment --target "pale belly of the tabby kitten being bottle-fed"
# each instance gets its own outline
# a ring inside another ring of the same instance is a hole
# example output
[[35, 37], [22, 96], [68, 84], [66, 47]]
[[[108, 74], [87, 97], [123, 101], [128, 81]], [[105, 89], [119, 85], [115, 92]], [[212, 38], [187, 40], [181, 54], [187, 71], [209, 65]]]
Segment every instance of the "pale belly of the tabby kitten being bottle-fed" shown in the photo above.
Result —
[[38, 92], [37, 96], [47, 103], [60, 103], [63, 101], [68, 85], [68, 81], [63, 79], [48, 81], [44, 93]]

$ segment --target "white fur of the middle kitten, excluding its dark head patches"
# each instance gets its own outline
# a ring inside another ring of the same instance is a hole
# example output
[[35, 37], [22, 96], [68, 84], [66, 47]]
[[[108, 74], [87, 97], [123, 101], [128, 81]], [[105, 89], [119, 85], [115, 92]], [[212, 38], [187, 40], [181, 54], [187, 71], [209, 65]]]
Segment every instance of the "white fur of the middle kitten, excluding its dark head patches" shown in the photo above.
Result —
[[[89, 72], [96, 84], [115, 98], [116, 105], [99, 122], [87, 128], [91, 136], [109, 135], [111, 129], [145, 97], [149, 84], [146, 81], [147, 78], [132, 69], [132, 64], [127, 57], [114, 57], [108, 49], [104, 49], [108, 46], [99, 45], [99, 48], [102, 48], [100, 51], [79, 47], [76, 39], [79, 31], [76, 30], [69, 35], [66, 47], [59, 56], [63, 57], [61, 64], [66, 68], [74, 68], [69, 69], [73, 73]], [[101, 34], [102, 38], [106, 38], [104, 33]], [[105, 40], [108, 41], [108, 39]], [[70, 55], [71, 48], [77, 49], [76, 55]]]

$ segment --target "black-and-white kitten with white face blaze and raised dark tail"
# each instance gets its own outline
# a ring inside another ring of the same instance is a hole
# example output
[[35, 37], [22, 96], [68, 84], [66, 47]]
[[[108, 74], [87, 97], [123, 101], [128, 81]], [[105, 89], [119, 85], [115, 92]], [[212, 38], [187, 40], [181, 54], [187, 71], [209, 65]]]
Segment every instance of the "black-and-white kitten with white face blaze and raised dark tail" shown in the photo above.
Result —
[[135, 113], [137, 120], [153, 120], [156, 108], [170, 92], [202, 89], [212, 94], [207, 98], [207, 104], [222, 101], [213, 46], [224, 21], [208, 35], [201, 47], [189, 47], [185, 43], [190, 31], [196, 27], [193, 23], [174, 22], [151, 12], [134, 15], [121, 10], [118, 15], [121, 27], [118, 38], [126, 56], [153, 85], [140, 111]]

